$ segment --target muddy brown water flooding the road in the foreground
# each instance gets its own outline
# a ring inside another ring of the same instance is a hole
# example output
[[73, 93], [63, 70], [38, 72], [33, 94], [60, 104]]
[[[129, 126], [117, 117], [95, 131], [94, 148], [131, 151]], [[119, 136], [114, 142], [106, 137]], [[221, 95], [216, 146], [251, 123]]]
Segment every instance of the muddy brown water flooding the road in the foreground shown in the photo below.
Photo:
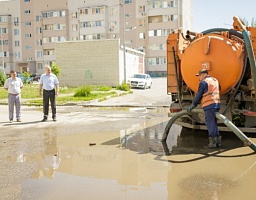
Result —
[[[161, 110], [124, 111], [139, 113], [138, 123], [117, 130], [119, 115], [110, 128], [99, 123], [99, 131], [87, 117], [79, 129], [65, 125], [78, 123], [74, 116], [81, 120], [82, 114], [72, 114], [73, 121], [60, 120], [64, 128], [49, 123], [34, 129], [37, 134], [20, 128], [3, 133], [0, 199], [255, 199], [256, 155], [236, 136], [223, 133], [222, 148], [205, 150], [206, 132], [174, 125], [163, 145]], [[129, 120], [134, 117], [126, 125]]]

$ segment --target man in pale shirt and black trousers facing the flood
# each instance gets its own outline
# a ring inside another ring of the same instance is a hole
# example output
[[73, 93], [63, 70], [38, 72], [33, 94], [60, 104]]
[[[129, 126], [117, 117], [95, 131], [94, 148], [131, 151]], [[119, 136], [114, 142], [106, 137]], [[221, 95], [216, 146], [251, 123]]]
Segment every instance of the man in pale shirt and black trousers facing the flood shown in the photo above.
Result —
[[48, 119], [49, 100], [51, 102], [51, 108], [52, 108], [52, 119], [53, 121], [57, 121], [55, 96], [58, 96], [59, 94], [59, 81], [57, 79], [57, 76], [51, 73], [51, 67], [49, 65], [45, 66], [45, 73], [41, 75], [41, 78], [39, 81], [39, 96], [42, 96], [42, 88], [43, 88], [43, 110], [44, 110], [44, 117], [42, 122], [45, 122]]

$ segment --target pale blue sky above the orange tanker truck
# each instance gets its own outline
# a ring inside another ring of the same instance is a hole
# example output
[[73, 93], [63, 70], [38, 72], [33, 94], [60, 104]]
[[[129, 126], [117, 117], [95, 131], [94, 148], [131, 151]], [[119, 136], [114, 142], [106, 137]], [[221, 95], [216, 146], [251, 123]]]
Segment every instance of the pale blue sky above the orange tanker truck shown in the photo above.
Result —
[[191, 31], [211, 28], [232, 28], [233, 16], [256, 20], [256, 0], [192, 0], [193, 25]]

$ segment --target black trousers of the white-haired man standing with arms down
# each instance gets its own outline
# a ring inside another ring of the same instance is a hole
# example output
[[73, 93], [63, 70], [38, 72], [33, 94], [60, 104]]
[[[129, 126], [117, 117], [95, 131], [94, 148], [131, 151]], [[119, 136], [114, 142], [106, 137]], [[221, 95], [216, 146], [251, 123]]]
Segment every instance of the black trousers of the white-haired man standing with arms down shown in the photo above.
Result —
[[47, 119], [49, 112], [49, 100], [52, 108], [52, 118], [56, 117], [55, 90], [43, 90], [43, 110], [44, 118]]

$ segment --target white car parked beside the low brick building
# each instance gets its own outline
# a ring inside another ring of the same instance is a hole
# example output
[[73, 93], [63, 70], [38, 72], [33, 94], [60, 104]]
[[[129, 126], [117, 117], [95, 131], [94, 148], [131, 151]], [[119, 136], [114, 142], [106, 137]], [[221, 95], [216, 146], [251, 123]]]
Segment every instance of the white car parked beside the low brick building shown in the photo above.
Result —
[[134, 74], [131, 78], [128, 79], [127, 83], [131, 88], [151, 88], [152, 79], [148, 74]]

